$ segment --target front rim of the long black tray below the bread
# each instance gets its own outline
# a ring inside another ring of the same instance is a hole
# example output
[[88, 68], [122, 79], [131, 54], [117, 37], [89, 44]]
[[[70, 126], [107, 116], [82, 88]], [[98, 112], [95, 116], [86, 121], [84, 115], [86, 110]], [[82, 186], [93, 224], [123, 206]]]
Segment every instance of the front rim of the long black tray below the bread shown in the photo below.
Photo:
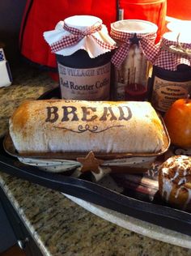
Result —
[[149, 203], [104, 188], [83, 178], [72, 178], [57, 173], [45, 173], [36, 167], [19, 163], [3, 151], [0, 141], [0, 169], [15, 177], [23, 178], [41, 186], [82, 198], [102, 207], [134, 216], [152, 224], [191, 235], [191, 214], [157, 203]]

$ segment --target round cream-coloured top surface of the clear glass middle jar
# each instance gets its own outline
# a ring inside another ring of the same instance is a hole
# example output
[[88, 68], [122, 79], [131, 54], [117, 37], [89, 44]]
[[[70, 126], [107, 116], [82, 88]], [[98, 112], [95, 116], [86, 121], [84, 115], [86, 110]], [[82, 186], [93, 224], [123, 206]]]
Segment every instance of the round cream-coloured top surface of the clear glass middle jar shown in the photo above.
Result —
[[118, 32], [148, 34], [157, 32], [157, 25], [142, 19], [123, 19], [111, 24], [111, 28]]

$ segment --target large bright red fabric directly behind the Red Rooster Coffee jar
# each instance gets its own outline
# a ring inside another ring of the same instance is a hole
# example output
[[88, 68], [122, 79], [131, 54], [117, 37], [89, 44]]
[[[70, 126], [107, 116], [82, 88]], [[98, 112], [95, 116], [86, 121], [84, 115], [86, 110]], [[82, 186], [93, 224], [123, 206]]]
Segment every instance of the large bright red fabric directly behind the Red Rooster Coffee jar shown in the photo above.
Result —
[[[31, 6], [30, 6], [31, 4]], [[95, 15], [110, 28], [117, 19], [117, 1], [110, 0], [28, 0], [30, 6], [20, 32], [21, 53], [40, 65], [55, 67], [55, 54], [45, 42], [43, 32], [53, 30], [58, 21], [72, 15]]]

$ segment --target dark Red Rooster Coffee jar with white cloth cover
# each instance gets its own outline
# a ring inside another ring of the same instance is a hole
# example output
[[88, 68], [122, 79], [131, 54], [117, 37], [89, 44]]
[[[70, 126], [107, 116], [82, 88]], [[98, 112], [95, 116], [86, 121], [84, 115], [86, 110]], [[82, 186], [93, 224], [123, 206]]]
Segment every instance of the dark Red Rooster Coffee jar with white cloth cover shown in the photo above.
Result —
[[102, 20], [75, 15], [44, 33], [57, 56], [63, 99], [109, 100], [112, 49], [115, 41]]

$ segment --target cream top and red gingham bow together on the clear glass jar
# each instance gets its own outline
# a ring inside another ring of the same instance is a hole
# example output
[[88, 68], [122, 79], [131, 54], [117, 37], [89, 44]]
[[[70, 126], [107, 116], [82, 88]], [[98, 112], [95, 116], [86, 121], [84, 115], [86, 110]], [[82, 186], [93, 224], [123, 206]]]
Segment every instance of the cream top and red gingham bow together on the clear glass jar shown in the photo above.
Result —
[[146, 59], [151, 61], [155, 53], [157, 29], [154, 23], [142, 19], [124, 19], [112, 23], [110, 35], [119, 43], [119, 48], [112, 56], [113, 65], [120, 68], [131, 45], [138, 45]]

